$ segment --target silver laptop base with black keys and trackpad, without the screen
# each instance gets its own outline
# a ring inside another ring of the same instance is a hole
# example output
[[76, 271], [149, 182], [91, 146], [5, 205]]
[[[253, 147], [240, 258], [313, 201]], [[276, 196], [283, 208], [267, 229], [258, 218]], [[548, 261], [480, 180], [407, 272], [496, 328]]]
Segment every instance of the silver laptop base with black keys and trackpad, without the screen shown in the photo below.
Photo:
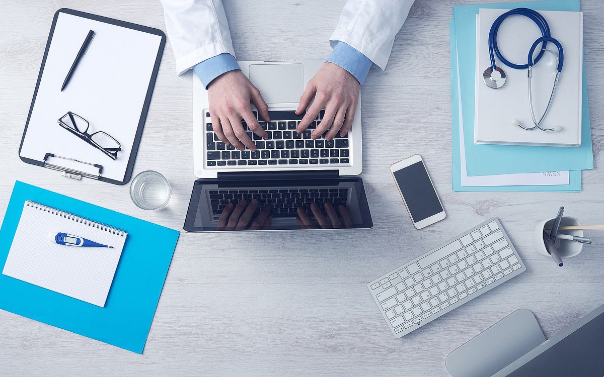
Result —
[[257, 151], [239, 151], [214, 134], [208, 112], [208, 92], [193, 75], [193, 168], [198, 178], [216, 178], [219, 172], [336, 170], [340, 176], [356, 176], [363, 168], [361, 150], [361, 101], [356, 107], [352, 129], [344, 138], [313, 141], [310, 133], [323, 112], [309, 128], [296, 133], [304, 116], [295, 115], [306, 83], [324, 64], [323, 60], [287, 62], [239, 62], [249, 80], [260, 90], [269, 106], [271, 122], [265, 122], [252, 107], [260, 125], [269, 133], [262, 139], [245, 125]]

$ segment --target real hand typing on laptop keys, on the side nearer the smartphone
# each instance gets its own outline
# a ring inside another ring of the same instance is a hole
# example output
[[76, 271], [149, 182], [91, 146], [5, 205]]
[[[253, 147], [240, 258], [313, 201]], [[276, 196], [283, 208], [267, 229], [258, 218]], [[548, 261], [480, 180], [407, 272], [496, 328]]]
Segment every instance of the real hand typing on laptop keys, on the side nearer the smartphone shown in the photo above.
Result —
[[314, 121], [319, 112], [324, 109], [325, 115], [310, 137], [320, 138], [327, 130], [329, 130], [325, 136], [327, 140], [333, 139], [338, 131], [340, 136], [346, 135], [355, 118], [359, 89], [361, 84], [350, 72], [333, 63], [325, 63], [310, 79], [300, 97], [300, 104], [296, 110], [298, 115], [306, 110], [313, 98], [314, 101], [296, 131], [301, 133], [306, 130], [310, 122]]

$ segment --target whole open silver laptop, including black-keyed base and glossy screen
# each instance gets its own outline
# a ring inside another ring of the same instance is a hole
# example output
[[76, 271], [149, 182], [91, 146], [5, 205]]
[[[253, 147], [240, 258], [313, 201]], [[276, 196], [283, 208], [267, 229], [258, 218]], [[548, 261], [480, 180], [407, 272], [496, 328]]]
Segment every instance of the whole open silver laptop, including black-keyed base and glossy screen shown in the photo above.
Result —
[[265, 122], [252, 107], [270, 136], [262, 139], [246, 128], [255, 152], [236, 150], [216, 137], [207, 90], [193, 77], [193, 165], [201, 179], [193, 185], [185, 231], [373, 227], [362, 179], [355, 177], [362, 171], [360, 104], [344, 137], [310, 139], [323, 112], [307, 131], [296, 133], [304, 116], [295, 115], [298, 101], [323, 63], [239, 62], [271, 116]]

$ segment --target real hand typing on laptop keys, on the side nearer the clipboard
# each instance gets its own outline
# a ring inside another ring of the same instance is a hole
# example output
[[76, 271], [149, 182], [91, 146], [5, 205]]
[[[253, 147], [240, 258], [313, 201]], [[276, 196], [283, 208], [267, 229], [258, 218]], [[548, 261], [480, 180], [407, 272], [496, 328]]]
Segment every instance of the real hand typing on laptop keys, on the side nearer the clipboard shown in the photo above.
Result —
[[268, 133], [260, 124], [250, 103], [265, 121], [270, 121], [268, 105], [262, 99], [260, 90], [242, 74], [241, 71], [229, 71], [214, 78], [208, 85], [208, 100], [210, 101], [210, 118], [214, 132], [226, 145], [243, 150], [248, 147], [252, 152], [256, 145], [243, 129], [242, 119], [248, 127], [261, 138], [268, 138]]

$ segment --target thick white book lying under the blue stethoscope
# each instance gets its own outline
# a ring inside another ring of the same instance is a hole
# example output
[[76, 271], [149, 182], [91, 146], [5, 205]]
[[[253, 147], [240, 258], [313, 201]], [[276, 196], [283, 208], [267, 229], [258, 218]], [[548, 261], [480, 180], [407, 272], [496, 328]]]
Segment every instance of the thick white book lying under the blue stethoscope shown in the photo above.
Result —
[[[564, 66], [550, 110], [542, 122], [545, 128], [559, 125], [562, 129], [559, 132], [546, 132], [539, 129], [524, 130], [512, 124], [512, 119], [518, 119], [527, 127], [533, 126], [528, 105], [526, 69], [510, 68], [495, 57], [496, 65], [506, 72], [506, 84], [493, 89], [483, 82], [483, 72], [490, 66], [489, 31], [495, 19], [506, 11], [508, 10], [483, 8], [477, 16], [475, 144], [578, 147], [581, 145], [583, 99], [583, 13], [539, 11], [550, 25], [551, 36], [557, 39], [564, 49]], [[513, 15], [502, 22], [497, 34], [497, 44], [501, 54], [509, 62], [520, 65], [527, 63], [528, 51], [539, 37], [541, 32], [535, 22], [524, 16]], [[547, 48], [557, 56], [557, 48], [551, 42]], [[533, 65], [533, 106], [538, 119], [550, 99], [556, 63], [554, 55], [545, 52], [542, 59]]]

